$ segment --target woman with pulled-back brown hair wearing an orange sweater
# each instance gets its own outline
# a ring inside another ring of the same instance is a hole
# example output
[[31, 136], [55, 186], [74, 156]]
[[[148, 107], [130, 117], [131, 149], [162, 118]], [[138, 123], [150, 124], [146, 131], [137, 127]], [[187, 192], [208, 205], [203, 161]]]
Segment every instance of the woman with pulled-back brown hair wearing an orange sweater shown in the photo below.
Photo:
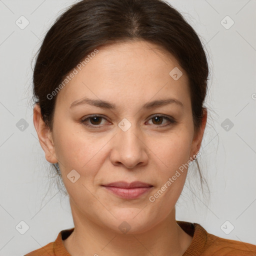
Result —
[[74, 228], [26, 255], [256, 255], [175, 220], [200, 155], [207, 77], [197, 34], [164, 1], [82, 0], [65, 11], [37, 55], [33, 122]]

